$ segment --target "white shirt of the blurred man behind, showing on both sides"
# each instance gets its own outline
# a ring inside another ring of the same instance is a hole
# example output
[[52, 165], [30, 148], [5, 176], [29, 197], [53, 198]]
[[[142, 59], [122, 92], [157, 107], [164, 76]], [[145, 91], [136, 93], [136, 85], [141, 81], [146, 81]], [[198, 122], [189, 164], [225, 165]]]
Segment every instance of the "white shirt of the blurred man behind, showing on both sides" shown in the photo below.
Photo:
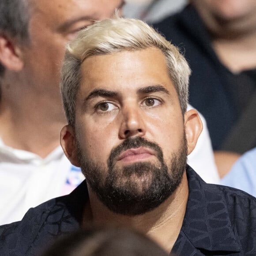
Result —
[[[206, 121], [200, 117], [203, 132], [188, 156], [188, 164], [204, 181], [218, 184]], [[68, 194], [83, 179], [80, 169], [72, 166], [61, 147], [43, 159], [34, 153], [7, 147], [0, 139], [0, 225], [19, 221], [30, 207]]]

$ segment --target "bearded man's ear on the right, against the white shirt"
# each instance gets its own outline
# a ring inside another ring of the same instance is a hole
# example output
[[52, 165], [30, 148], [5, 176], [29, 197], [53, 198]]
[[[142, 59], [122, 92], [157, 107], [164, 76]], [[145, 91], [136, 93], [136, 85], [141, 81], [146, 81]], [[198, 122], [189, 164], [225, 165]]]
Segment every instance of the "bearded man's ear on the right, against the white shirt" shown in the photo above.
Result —
[[184, 114], [184, 126], [188, 143], [188, 154], [190, 154], [196, 147], [197, 139], [203, 130], [203, 124], [196, 109], [191, 109]]

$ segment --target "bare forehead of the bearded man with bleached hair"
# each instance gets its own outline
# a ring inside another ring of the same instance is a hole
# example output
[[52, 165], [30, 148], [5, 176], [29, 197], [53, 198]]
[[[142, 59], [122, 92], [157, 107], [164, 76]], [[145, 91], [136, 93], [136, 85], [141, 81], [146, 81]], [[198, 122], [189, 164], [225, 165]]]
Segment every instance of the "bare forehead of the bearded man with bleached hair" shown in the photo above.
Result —
[[83, 94], [99, 88], [127, 94], [151, 85], [162, 85], [176, 94], [166, 58], [155, 48], [91, 56], [84, 60], [81, 73]]

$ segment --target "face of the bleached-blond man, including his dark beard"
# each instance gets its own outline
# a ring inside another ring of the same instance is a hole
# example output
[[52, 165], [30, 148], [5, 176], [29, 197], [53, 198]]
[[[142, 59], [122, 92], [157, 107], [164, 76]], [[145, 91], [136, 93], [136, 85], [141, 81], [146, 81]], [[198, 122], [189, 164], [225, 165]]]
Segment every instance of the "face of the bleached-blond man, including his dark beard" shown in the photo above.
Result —
[[81, 71], [75, 133], [89, 186], [122, 214], [157, 207], [180, 184], [188, 150], [164, 55], [145, 49], [91, 56]]

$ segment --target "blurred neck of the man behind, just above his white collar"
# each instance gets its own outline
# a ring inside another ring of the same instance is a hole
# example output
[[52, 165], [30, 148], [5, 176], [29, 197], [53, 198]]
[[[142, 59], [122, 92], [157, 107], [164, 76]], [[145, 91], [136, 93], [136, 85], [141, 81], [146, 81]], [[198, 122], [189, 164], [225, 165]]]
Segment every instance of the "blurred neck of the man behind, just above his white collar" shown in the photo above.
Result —
[[10, 96], [9, 88], [9, 83], [1, 83], [1, 139], [9, 147], [45, 158], [60, 145], [60, 129], [66, 124], [61, 103], [45, 102], [41, 95], [27, 95], [25, 90]]

